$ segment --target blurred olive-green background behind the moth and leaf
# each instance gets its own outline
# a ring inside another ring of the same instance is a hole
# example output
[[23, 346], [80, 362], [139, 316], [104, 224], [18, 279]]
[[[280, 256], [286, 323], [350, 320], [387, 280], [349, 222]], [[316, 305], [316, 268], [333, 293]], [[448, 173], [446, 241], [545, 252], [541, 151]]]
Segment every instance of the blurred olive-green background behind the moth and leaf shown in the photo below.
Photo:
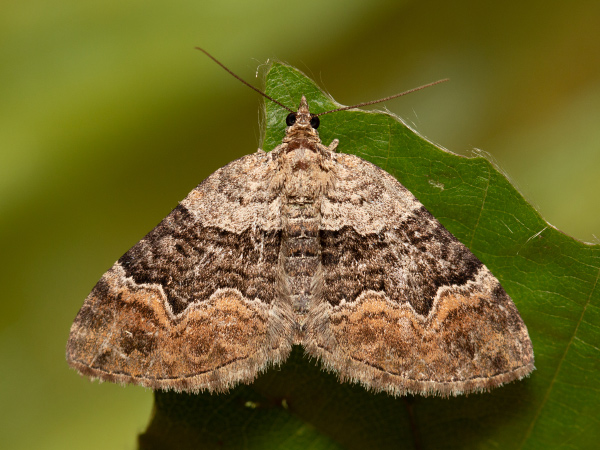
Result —
[[[253, 152], [279, 59], [344, 104], [488, 153], [553, 225], [600, 232], [600, 2], [4, 1], [0, 7], [0, 439], [134, 448], [152, 407], [64, 348], [102, 273], [208, 174]], [[382, 106], [383, 107], [383, 106]], [[595, 234], [595, 235], [594, 235]]]

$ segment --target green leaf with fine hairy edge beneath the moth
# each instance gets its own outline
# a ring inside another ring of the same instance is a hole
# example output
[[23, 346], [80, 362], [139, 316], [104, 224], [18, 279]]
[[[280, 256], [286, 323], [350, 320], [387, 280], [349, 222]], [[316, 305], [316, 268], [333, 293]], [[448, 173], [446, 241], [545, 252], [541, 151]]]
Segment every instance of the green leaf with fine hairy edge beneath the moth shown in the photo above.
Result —
[[[275, 64], [267, 93], [311, 111], [332, 99], [297, 70]], [[265, 150], [287, 111], [266, 105]], [[323, 143], [394, 175], [498, 277], [533, 341], [530, 378], [486, 394], [394, 398], [341, 384], [294, 349], [289, 360], [228, 394], [157, 392], [140, 447], [154, 448], [596, 448], [600, 441], [600, 246], [548, 225], [482, 157], [425, 141], [383, 113], [321, 118]]]

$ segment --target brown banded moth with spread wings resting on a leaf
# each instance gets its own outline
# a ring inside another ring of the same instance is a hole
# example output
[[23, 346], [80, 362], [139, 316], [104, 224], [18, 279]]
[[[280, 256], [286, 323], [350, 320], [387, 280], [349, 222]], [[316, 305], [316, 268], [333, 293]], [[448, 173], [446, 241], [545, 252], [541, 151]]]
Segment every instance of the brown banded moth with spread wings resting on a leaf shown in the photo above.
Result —
[[323, 145], [306, 98], [249, 86], [290, 110], [281, 144], [210, 175], [102, 276], [69, 364], [185, 392], [250, 383], [293, 345], [392, 395], [528, 375], [527, 328], [486, 266], [393, 176]]

